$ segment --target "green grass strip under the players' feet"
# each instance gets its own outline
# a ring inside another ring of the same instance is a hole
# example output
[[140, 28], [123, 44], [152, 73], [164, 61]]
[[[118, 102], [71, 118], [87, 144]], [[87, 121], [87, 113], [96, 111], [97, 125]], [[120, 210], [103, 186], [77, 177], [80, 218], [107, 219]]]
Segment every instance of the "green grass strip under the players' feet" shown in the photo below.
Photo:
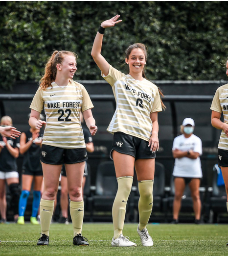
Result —
[[72, 224], [51, 224], [49, 246], [37, 246], [40, 226], [0, 225], [2, 256], [225, 256], [228, 255], [228, 225], [149, 224], [153, 247], [141, 246], [137, 224], [125, 224], [124, 235], [137, 247], [111, 247], [113, 225], [85, 223], [83, 235], [90, 246], [72, 244]]

